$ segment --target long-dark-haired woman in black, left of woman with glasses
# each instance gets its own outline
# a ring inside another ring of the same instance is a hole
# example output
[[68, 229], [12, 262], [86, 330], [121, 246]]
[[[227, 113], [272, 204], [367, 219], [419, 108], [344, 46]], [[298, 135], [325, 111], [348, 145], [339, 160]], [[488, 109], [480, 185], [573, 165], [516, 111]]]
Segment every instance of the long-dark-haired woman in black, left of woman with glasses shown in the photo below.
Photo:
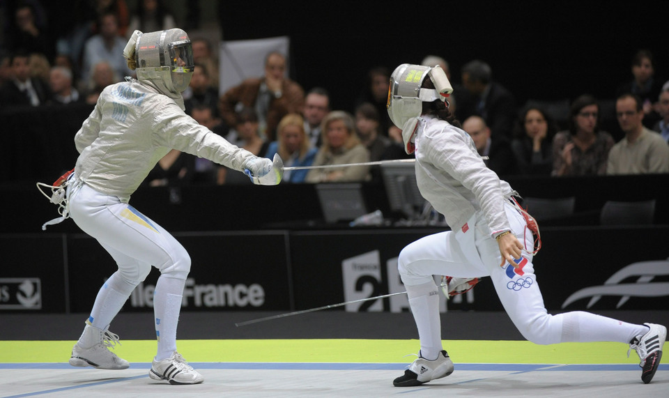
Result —
[[553, 170], [553, 137], [557, 127], [539, 107], [528, 107], [516, 122], [511, 148], [518, 171], [526, 176], [550, 176]]

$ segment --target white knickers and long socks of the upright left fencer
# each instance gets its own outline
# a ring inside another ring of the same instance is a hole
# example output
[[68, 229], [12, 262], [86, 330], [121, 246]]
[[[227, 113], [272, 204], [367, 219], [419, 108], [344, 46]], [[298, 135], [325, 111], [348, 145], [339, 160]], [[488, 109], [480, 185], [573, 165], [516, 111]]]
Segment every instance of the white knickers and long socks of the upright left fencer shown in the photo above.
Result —
[[[159, 345], [157, 359], [169, 357], [176, 350], [176, 324], [183, 286], [190, 272], [190, 256], [174, 236], [117, 197], [76, 181], [68, 187], [68, 199], [72, 220], [98, 240], [118, 266], [118, 271], [98, 293], [90, 323], [105, 329], [134, 287], [155, 266], [161, 273], [153, 300]], [[96, 316], [101, 319], [95, 319]]]

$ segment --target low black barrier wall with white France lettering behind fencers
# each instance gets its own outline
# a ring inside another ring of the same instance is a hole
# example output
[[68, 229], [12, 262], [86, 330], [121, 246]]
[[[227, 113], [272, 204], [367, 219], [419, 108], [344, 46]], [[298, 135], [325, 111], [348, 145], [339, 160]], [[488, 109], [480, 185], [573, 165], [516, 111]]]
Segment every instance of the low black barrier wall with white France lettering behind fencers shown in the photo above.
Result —
[[[404, 245], [443, 229], [176, 233], [192, 257], [184, 311], [292, 311], [403, 291]], [[542, 229], [537, 283], [551, 312], [669, 307], [668, 226]], [[90, 311], [114, 262], [83, 234], [0, 236], [1, 312]], [[124, 311], [153, 310], [157, 270]], [[445, 302], [442, 303], [445, 308]], [[501, 310], [489, 280], [450, 309]], [[346, 305], [352, 312], [402, 312], [405, 295]]]

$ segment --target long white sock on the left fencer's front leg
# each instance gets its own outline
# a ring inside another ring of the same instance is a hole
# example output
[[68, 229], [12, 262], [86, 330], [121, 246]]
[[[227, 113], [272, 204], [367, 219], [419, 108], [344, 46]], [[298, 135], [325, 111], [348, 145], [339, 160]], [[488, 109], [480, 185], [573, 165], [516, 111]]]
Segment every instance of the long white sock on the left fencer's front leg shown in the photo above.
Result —
[[181, 298], [186, 281], [161, 275], [153, 292], [155, 337], [158, 342], [155, 360], [169, 358], [176, 351], [176, 327], [181, 312]]

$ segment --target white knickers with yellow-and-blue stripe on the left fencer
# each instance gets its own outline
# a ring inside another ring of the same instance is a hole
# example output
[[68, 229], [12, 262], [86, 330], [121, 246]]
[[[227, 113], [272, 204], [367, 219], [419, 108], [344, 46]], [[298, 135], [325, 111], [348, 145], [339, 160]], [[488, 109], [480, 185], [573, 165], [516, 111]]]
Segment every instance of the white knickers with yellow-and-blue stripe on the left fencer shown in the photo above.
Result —
[[141, 282], [155, 266], [165, 277], [186, 279], [190, 256], [146, 215], [80, 181], [70, 184], [68, 197], [72, 220], [114, 257], [123, 277]]

